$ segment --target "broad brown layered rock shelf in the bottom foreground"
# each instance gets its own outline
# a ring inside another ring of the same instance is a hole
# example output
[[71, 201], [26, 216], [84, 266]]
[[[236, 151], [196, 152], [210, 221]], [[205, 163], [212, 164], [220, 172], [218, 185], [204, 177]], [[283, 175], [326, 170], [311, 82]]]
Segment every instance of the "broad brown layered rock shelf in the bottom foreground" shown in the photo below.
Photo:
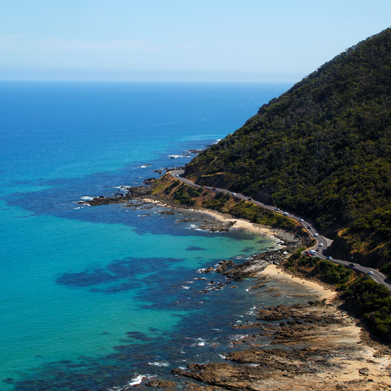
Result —
[[[187, 369], [172, 372], [224, 390], [368, 389], [368, 377], [373, 380], [378, 363], [364, 358], [368, 349], [359, 343], [359, 335], [352, 333], [354, 321], [334, 304], [323, 300], [270, 306], [259, 311], [259, 319], [285, 322], [234, 326], [260, 329], [258, 335], [248, 335], [236, 343], [252, 347], [226, 353], [223, 363], [192, 363]], [[260, 345], [260, 337], [275, 348]], [[351, 363], [357, 360], [365, 366], [352, 369]], [[388, 388], [390, 370], [376, 374], [374, 388], [369, 389]]]

